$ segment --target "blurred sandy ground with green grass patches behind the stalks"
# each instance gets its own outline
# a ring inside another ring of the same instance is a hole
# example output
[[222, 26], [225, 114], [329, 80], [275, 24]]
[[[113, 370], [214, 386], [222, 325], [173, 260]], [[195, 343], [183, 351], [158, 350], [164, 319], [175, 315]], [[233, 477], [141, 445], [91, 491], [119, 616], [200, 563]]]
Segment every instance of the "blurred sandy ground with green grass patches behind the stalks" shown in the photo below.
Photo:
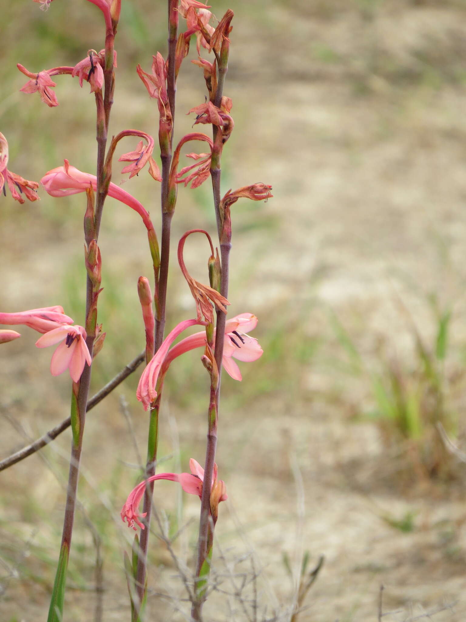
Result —
[[[253, 336], [264, 354], [240, 363], [241, 383], [226, 374], [222, 381], [217, 462], [229, 501], [220, 508], [205, 619], [464, 620], [466, 465], [445, 450], [437, 424], [466, 448], [466, 3], [232, 0], [211, 10], [220, 18], [227, 7], [235, 17], [224, 92], [235, 129], [222, 157], [222, 192], [264, 182], [274, 198], [232, 207], [229, 313], [257, 315]], [[165, 2], [122, 1], [110, 134], [137, 128], [157, 136], [157, 104], [135, 66], [149, 71], [152, 54], [165, 57], [165, 21]], [[1, 30], [9, 169], [39, 180], [66, 158], [94, 172], [89, 86], [57, 77], [60, 106], [48, 108], [19, 93], [26, 80], [16, 63], [37, 72], [99, 51], [100, 12], [84, 0], [53, 2], [47, 12], [29, 0], [9, 2]], [[178, 78], [175, 139], [190, 131], [185, 113], [206, 94], [193, 58], [194, 41]], [[128, 140], [119, 152], [134, 147]], [[142, 172], [124, 188], [157, 228], [158, 184]], [[19, 205], [1, 197], [0, 309], [61, 304], [82, 324], [85, 202], [43, 190], [40, 198]], [[178, 192], [167, 330], [194, 312], [175, 253], [190, 228], [216, 233], [209, 183]], [[112, 199], [99, 245], [98, 321], [107, 338], [91, 393], [144, 348], [136, 284], [150, 277], [142, 223]], [[204, 282], [207, 257], [203, 241], [190, 238], [186, 263]], [[20, 332], [0, 352], [0, 458], [68, 416], [68, 374], [52, 378], [52, 351], [37, 350], [31, 330]], [[103, 620], [129, 619], [122, 551], [133, 532], [118, 514], [145, 455], [138, 379], [139, 371], [86, 420], [70, 622], [97, 620], [99, 601]], [[192, 352], [173, 363], [165, 383], [159, 471], [185, 471], [190, 457], [204, 462], [207, 406], [208, 379]], [[7, 622], [45, 619], [70, 437], [67, 430], [0, 474]], [[175, 488], [157, 483], [155, 506], [176, 555], [192, 567], [199, 503]], [[183, 584], [156, 536], [149, 587], [149, 619], [186, 619]], [[291, 618], [297, 601], [304, 610]]]

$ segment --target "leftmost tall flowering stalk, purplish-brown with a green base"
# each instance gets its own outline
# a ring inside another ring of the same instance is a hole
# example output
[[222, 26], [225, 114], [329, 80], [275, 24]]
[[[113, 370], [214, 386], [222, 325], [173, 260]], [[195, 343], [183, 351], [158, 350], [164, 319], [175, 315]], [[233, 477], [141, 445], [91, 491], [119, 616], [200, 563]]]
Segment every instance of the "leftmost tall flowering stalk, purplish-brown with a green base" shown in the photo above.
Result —
[[[92, 1], [92, 0], [91, 0]], [[97, 247], [99, 229], [102, 219], [104, 200], [107, 189], [105, 187], [104, 159], [107, 144], [107, 129], [111, 106], [113, 103], [114, 90], [114, 35], [116, 33], [119, 18], [119, 0], [115, 0], [114, 14], [109, 21], [106, 13], [106, 2], [94, 2], [104, 12], [106, 19], [105, 38], [105, 66], [104, 66], [104, 96], [102, 91], [96, 90], [96, 138], [98, 144], [97, 154], [97, 200], [94, 207], [94, 197], [91, 189], [88, 193], [88, 208], [85, 218], [85, 242], [86, 242], [86, 345], [89, 356], [92, 359], [94, 339], [96, 337], [97, 298], [100, 288], [100, 253]], [[91, 365], [86, 364], [80, 380], [73, 382], [71, 395], [71, 428], [73, 440], [71, 443], [70, 471], [68, 475], [68, 489], [66, 493], [65, 518], [63, 521], [62, 546], [58, 559], [57, 573], [53, 585], [52, 598], [48, 611], [47, 622], [61, 622], [63, 620], [63, 604], [65, 599], [66, 570], [70, 554], [71, 536], [73, 534], [73, 522], [75, 517], [76, 491], [78, 489], [79, 467], [81, 449], [83, 445], [83, 433], [86, 419], [89, 383], [91, 379]]]

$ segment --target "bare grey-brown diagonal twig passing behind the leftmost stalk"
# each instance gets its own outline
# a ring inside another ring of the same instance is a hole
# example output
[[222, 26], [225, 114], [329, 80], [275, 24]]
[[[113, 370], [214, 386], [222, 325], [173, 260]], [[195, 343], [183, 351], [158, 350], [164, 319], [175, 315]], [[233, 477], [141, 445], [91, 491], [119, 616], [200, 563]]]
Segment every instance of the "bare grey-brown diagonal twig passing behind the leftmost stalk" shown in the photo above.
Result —
[[[130, 374], [132, 374], [135, 369], [139, 367], [142, 361], [144, 361], [144, 352], [136, 356], [136, 358], [128, 363], [126, 367], [115, 376], [115, 378], [112, 378], [109, 383], [103, 386], [100, 391], [98, 391], [93, 397], [91, 397], [91, 399], [89, 399], [86, 412], [89, 412], [92, 408], [94, 408], [94, 406], [97, 406], [97, 404], [99, 404], [99, 402], [101, 402], [104, 397], [107, 397], [107, 395], [111, 393], [113, 389], [121, 384], [124, 379], [130, 376]], [[45, 432], [45, 434], [39, 439], [35, 440], [33, 443], [30, 443], [30, 445], [26, 445], [26, 447], [23, 447], [15, 453], [12, 453], [10, 456], [0, 462], [0, 471], [3, 471], [4, 469], [16, 464], [17, 462], [21, 462], [21, 460], [24, 460], [24, 458], [27, 458], [33, 453], [39, 451], [39, 449], [42, 449], [42, 447], [45, 447], [45, 445], [50, 443], [50, 441], [56, 439], [58, 435], [62, 434], [62, 432], [70, 427], [70, 425], [71, 417], [68, 417], [60, 424], [55, 425], [52, 430], [48, 430], [48, 432]]]

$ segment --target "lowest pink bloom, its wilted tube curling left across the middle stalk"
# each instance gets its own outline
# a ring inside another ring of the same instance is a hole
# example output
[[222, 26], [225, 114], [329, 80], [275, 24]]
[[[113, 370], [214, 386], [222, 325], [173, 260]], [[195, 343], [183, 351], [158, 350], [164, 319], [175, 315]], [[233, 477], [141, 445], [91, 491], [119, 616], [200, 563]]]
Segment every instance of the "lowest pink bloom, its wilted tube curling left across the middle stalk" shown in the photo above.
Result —
[[[127, 521], [128, 527], [132, 527], [134, 531], [136, 531], [134, 523], [139, 525], [141, 529], [145, 528], [144, 524], [142, 524], [139, 520], [145, 516], [145, 514], [139, 514], [139, 504], [144, 496], [146, 485], [150, 481], [177, 481], [181, 484], [181, 488], [183, 488], [185, 493], [197, 494], [200, 499], [203, 493], [204, 469], [198, 462], [196, 462], [196, 460], [194, 460], [194, 458], [191, 458], [190, 460], [190, 469], [191, 473], [159, 473], [158, 475], [152, 475], [152, 477], [149, 477], [147, 480], [144, 480], [138, 484], [126, 499], [126, 503], [121, 511], [122, 521]], [[214, 464], [214, 473], [211, 485], [211, 512], [216, 510], [220, 501], [226, 501], [227, 498], [228, 496], [225, 483], [222, 480], [217, 480], [217, 465]]]

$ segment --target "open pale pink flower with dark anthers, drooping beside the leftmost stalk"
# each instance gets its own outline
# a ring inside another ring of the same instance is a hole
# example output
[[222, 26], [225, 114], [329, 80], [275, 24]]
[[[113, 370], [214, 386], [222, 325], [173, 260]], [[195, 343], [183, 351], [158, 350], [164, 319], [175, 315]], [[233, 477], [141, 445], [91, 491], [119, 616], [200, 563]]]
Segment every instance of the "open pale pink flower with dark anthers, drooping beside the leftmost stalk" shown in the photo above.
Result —
[[35, 345], [38, 348], [47, 348], [59, 341], [62, 341], [57, 350], [52, 355], [50, 362], [50, 373], [52, 376], [59, 376], [70, 369], [70, 376], [75, 383], [81, 378], [84, 366], [91, 365], [91, 355], [86, 344], [86, 331], [82, 326], [63, 325], [50, 330], [37, 340]]

